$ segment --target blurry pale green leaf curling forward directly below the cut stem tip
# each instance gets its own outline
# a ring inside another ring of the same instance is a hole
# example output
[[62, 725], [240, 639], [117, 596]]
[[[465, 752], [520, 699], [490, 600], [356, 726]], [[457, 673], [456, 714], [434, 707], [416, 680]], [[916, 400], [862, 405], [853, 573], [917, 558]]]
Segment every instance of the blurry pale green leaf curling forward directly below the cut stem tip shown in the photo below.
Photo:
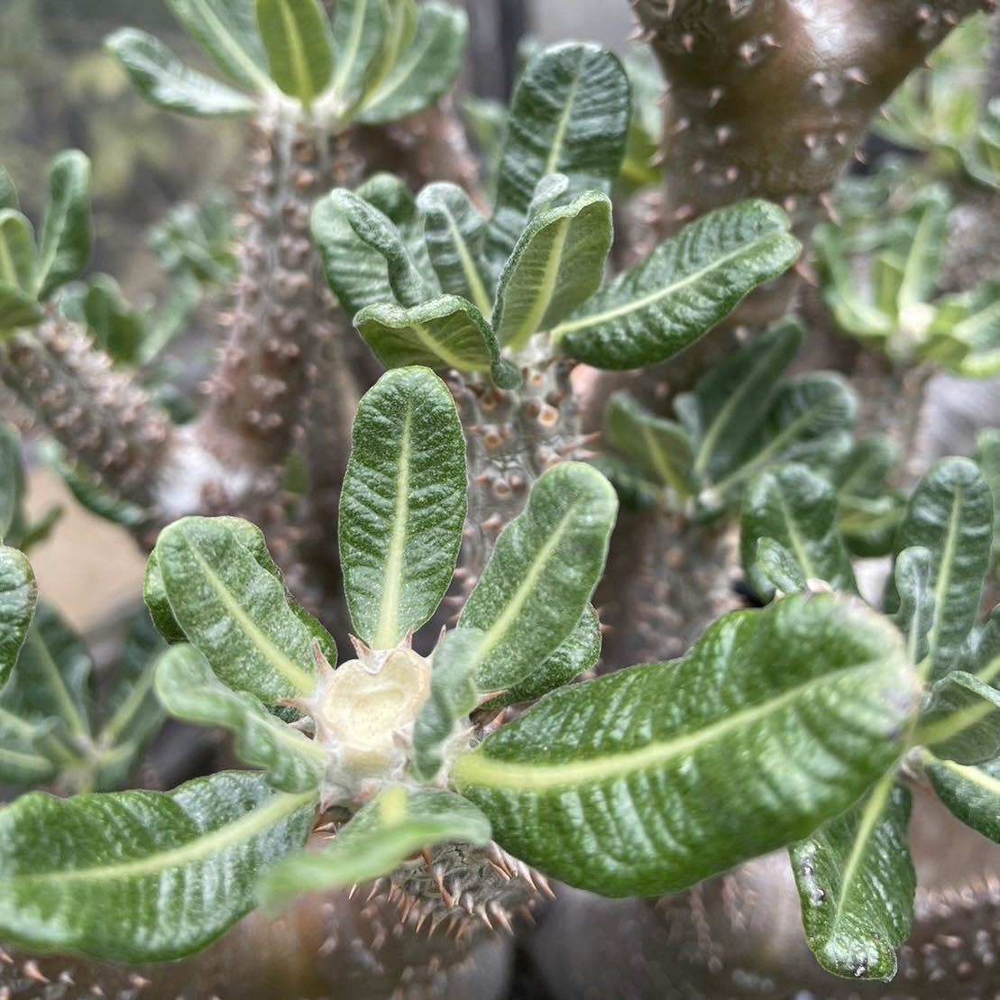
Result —
[[482, 846], [490, 822], [452, 792], [386, 789], [341, 827], [323, 851], [276, 866], [261, 884], [265, 908], [277, 913], [298, 895], [343, 889], [387, 875], [422, 848], [441, 843]]

